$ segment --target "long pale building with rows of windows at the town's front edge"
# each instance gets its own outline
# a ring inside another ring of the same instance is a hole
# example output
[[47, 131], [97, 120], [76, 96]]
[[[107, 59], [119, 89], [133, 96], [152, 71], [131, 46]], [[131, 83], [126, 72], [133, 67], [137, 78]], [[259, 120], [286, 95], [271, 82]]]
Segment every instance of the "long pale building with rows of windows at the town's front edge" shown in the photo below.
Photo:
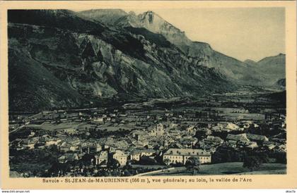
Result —
[[163, 154], [163, 161], [185, 164], [190, 157], [196, 157], [200, 163], [211, 163], [211, 154], [202, 149], [168, 149]]

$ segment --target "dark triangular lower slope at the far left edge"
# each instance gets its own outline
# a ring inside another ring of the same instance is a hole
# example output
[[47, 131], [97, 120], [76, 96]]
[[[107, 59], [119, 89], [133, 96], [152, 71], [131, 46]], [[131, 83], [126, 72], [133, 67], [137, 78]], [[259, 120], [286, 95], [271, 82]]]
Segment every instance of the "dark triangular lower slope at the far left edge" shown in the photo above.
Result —
[[16, 39], [9, 39], [10, 111], [36, 111], [81, 106], [86, 99], [36, 61]]

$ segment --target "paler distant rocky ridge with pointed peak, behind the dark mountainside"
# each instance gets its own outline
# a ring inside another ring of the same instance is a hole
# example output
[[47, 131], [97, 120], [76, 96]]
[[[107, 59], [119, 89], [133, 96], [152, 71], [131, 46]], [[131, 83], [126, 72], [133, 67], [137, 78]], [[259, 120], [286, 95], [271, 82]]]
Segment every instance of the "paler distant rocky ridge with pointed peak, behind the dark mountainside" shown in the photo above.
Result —
[[99, 20], [107, 25], [122, 27], [145, 28], [153, 33], [163, 35], [169, 42], [176, 45], [186, 56], [197, 58], [199, 65], [218, 69], [226, 77], [237, 80], [245, 85], [266, 85], [266, 77], [257, 73], [248, 63], [243, 63], [225, 56], [211, 49], [211, 46], [204, 42], [192, 42], [187, 38], [185, 32], [177, 29], [167, 21], [163, 20], [158, 14], [147, 11], [139, 15], [135, 13], [122, 13], [122, 16], [115, 13], [117, 20], [103, 20], [92, 17], [90, 13], [101, 12], [103, 18], [113, 18], [113, 14], [105, 14], [102, 10], [83, 11], [80, 15], [88, 15], [88, 19]]

